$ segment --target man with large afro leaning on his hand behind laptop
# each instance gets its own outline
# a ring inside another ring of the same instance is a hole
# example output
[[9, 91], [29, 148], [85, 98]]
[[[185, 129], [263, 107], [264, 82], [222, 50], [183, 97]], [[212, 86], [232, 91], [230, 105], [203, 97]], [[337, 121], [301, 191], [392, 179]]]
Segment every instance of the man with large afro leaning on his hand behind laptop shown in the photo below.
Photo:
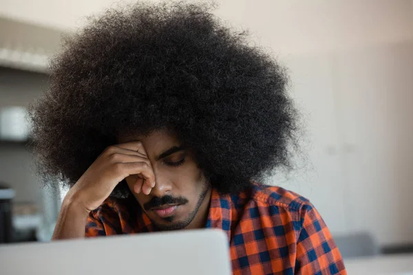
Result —
[[346, 274], [313, 205], [260, 184], [290, 167], [284, 69], [208, 5], [138, 3], [91, 19], [32, 105], [46, 179], [71, 188], [53, 239], [220, 228], [234, 274]]

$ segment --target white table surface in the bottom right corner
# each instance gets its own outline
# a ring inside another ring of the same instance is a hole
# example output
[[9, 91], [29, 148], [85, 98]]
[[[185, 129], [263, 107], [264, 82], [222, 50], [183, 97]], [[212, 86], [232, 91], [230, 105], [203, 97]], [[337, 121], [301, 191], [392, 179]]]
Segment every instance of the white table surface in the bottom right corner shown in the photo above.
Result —
[[381, 255], [344, 260], [348, 274], [413, 275], [413, 254]]

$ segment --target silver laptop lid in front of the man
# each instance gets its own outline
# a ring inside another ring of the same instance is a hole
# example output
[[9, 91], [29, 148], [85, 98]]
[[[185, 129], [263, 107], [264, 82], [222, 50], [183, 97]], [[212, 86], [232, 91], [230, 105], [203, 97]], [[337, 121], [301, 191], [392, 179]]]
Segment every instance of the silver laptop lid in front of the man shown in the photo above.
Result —
[[222, 230], [0, 245], [2, 275], [231, 274]]

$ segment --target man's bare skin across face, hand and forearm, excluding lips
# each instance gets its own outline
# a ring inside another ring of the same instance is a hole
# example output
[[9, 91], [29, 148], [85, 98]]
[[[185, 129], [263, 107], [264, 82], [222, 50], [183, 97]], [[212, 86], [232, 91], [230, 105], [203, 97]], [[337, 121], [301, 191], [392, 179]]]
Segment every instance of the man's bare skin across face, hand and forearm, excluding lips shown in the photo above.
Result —
[[[67, 193], [52, 239], [83, 237], [89, 212], [123, 179], [158, 229], [204, 227], [211, 185], [176, 135], [158, 130], [126, 135], [119, 142], [107, 147]], [[153, 210], [171, 205], [177, 208], [167, 217]]]

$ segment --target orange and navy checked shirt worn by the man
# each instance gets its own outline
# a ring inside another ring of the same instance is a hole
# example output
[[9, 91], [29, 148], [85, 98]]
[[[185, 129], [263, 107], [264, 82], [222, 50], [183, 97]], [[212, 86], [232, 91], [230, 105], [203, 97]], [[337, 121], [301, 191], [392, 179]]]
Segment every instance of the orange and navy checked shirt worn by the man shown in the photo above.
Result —
[[[233, 274], [346, 274], [332, 236], [314, 206], [274, 186], [248, 192], [213, 190], [207, 228], [229, 239]], [[107, 199], [89, 215], [86, 236], [156, 230], [135, 199]]]

